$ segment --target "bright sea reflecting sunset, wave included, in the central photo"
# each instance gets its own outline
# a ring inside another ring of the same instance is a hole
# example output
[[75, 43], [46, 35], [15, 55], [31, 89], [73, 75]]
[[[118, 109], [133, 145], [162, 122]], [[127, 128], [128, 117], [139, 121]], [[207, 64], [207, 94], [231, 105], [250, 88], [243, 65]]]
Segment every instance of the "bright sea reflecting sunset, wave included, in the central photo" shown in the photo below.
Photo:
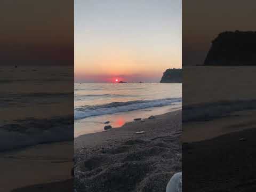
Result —
[[181, 108], [182, 84], [75, 84], [75, 137]]

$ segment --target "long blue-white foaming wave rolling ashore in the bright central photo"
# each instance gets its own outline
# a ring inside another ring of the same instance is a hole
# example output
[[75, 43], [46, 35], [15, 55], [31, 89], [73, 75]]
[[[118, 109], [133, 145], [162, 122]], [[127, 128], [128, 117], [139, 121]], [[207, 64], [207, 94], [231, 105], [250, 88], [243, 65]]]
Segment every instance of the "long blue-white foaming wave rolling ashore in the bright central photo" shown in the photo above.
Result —
[[127, 102], [111, 102], [104, 105], [83, 106], [75, 108], [74, 118], [81, 119], [90, 116], [114, 114], [125, 111], [145, 109], [149, 107], [163, 107], [175, 102], [181, 102], [181, 98], [165, 98], [155, 100], [137, 100]]

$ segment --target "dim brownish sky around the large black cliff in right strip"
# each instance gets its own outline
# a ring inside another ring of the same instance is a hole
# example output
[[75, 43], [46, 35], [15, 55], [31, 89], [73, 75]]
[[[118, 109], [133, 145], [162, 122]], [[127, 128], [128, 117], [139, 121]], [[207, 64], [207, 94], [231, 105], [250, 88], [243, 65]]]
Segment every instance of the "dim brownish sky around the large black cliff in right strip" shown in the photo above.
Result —
[[255, 0], [183, 0], [182, 65], [203, 65], [211, 42], [223, 31], [256, 31], [255, 7]]

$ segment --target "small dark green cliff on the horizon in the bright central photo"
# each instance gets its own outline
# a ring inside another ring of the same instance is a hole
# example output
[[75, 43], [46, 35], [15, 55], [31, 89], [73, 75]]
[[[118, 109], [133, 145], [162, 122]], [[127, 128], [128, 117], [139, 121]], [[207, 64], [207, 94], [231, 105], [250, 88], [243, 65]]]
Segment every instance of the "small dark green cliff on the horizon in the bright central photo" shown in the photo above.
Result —
[[182, 69], [167, 69], [160, 83], [182, 83]]

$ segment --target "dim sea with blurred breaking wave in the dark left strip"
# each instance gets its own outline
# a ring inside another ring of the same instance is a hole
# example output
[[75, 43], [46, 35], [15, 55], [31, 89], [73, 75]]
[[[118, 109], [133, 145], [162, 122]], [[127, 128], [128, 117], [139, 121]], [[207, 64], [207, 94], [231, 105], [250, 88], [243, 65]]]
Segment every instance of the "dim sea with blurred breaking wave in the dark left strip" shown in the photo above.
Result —
[[74, 68], [2, 66], [0, 151], [74, 138]]

